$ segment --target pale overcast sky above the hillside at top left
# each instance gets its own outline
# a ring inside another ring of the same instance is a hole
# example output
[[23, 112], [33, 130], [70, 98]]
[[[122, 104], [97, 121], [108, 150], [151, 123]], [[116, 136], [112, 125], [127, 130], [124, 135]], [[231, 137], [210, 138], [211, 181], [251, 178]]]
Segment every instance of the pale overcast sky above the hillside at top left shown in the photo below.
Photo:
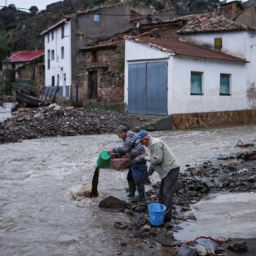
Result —
[[[38, 10], [45, 10], [48, 4], [55, 3], [56, 1], [60, 0], [0, 0], [0, 5], [4, 6], [7, 2], [7, 6], [9, 4], [15, 4], [17, 8], [26, 8], [29, 9], [32, 5], [37, 6]], [[227, 2], [233, 0], [227, 0]], [[242, 0], [246, 1], [246, 0]]]

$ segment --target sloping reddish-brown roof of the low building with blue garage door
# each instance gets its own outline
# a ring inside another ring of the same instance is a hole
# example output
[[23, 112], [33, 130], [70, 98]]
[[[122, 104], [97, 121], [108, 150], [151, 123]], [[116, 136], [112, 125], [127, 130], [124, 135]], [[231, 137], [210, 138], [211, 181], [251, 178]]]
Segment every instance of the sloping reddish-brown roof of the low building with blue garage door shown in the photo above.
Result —
[[175, 39], [159, 39], [148, 37], [126, 37], [132, 39], [135, 42], [145, 43], [151, 45], [151, 47], [159, 50], [174, 53], [176, 56], [187, 56], [200, 59], [214, 59], [222, 61], [235, 61], [235, 62], [247, 62], [245, 59], [238, 58], [236, 56], [230, 56], [225, 53], [215, 52], [214, 50], [208, 50], [197, 45], [192, 45], [187, 42], [182, 42]]

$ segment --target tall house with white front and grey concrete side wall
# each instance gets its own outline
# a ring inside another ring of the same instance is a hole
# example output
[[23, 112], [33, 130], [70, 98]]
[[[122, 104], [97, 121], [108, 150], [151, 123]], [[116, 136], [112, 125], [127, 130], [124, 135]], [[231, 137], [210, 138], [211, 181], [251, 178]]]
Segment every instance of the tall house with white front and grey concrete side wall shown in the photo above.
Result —
[[[173, 9], [165, 10], [165, 13], [167, 12], [173, 13]], [[84, 56], [80, 48], [129, 31], [135, 26], [134, 20], [137, 17], [143, 18], [143, 15], [133, 11], [129, 1], [126, 1], [93, 10], [78, 11], [42, 31], [47, 63], [45, 85], [59, 86], [61, 96], [86, 105], [89, 89], [84, 88], [81, 81], [84, 80], [88, 69], [84, 69]], [[95, 75], [91, 75], [89, 79], [94, 80], [94, 77]], [[86, 97], [83, 97], [83, 94], [86, 94]]]

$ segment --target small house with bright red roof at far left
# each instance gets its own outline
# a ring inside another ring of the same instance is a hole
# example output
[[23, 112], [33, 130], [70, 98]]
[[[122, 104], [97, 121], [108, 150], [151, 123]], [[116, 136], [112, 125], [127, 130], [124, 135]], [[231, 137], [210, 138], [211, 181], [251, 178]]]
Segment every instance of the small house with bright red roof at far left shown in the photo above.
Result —
[[39, 86], [45, 83], [45, 50], [23, 50], [13, 53], [2, 62], [5, 80], [34, 80]]

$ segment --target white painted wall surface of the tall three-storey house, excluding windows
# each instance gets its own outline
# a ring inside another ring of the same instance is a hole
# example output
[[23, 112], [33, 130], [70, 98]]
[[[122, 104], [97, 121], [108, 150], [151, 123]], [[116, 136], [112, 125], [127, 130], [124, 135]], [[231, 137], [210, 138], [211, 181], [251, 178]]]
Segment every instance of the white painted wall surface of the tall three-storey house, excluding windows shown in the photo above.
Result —
[[[71, 26], [67, 21], [64, 23], [64, 38], [61, 38], [61, 26], [53, 29], [48, 42], [48, 34], [45, 34], [45, 86], [52, 86], [52, 76], [55, 77], [55, 86], [59, 75], [59, 86], [63, 86], [63, 95], [65, 95], [65, 86], [71, 86]], [[64, 59], [61, 59], [61, 47], [64, 47]], [[48, 50], [50, 50], [50, 69], [48, 69]], [[54, 50], [54, 60], [51, 60], [51, 51]], [[64, 77], [66, 76], [66, 80]]]

